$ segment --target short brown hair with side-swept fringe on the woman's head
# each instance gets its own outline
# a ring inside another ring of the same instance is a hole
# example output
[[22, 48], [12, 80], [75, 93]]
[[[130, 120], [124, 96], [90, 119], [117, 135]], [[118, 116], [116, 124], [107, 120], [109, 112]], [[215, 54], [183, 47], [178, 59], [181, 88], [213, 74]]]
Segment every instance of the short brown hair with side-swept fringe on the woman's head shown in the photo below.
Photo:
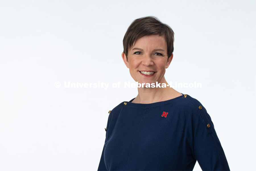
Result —
[[[128, 57], [128, 51], [133, 46], [133, 43], [146, 35], [156, 34], [164, 35], [167, 44], [168, 58], [172, 55], [174, 47], [174, 32], [170, 26], [162, 23], [157, 17], [148, 16], [134, 20], [128, 27], [123, 37], [123, 52]], [[127, 58], [128, 60], [128, 58]]]

